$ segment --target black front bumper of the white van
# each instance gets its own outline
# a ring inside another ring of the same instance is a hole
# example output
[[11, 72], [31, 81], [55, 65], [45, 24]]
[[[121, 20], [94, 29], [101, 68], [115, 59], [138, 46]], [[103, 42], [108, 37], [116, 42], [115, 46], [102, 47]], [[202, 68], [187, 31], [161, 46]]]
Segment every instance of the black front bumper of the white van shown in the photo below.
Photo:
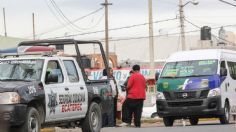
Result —
[[191, 100], [157, 100], [157, 114], [159, 117], [219, 117], [224, 114], [221, 108], [221, 97]]

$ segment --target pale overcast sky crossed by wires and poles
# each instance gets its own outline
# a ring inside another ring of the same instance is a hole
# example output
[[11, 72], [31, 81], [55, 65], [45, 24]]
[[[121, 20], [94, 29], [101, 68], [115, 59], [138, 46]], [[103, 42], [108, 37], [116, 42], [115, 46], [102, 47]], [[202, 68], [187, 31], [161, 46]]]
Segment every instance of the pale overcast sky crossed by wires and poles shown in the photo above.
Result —
[[[109, 28], [119, 28], [148, 22], [148, 0], [108, 0]], [[183, 0], [184, 3], [188, 2]], [[198, 0], [198, 5], [188, 4], [184, 7], [186, 19], [196, 26], [219, 27], [236, 24], [236, 7], [218, 0]], [[233, 0], [228, 0], [236, 4]], [[83, 34], [74, 38], [102, 39], [104, 33], [86, 34], [104, 29], [104, 9], [68, 24], [59, 15], [74, 21], [101, 8], [104, 0], [0, 0], [0, 35], [4, 35], [2, 8], [6, 10], [7, 34], [12, 37], [32, 38], [32, 13], [35, 14], [37, 38], [53, 38], [66, 35]], [[153, 21], [173, 19], [179, 16], [179, 0], [153, 0]], [[55, 5], [54, 3], [54, 5]], [[67, 26], [65, 26], [67, 25]], [[186, 31], [199, 28], [185, 22]], [[218, 30], [218, 29], [217, 29]], [[236, 27], [226, 30], [236, 32]], [[170, 20], [154, 24], [154, 35], [179, 32], [179, 20]], [[217, 33], [216, 30], [212, 31]], [[85, 35], [84, 35], [85, 33]], [[110, 32], [111, 38], [141, 37], [148, 35], [148, 26], [137, 26]]]

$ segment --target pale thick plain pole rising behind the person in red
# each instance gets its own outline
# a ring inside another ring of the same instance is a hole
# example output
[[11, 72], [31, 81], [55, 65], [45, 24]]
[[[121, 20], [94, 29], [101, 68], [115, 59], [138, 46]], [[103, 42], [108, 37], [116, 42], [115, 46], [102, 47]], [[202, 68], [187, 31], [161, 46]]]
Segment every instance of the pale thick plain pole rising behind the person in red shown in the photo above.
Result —
[[152, 19], [152, 0], [148, 0], [148, 16], [149, 16], [149, 57], [151, 75], [154, 75], [154, 38], [153, 38], [153, 19]]

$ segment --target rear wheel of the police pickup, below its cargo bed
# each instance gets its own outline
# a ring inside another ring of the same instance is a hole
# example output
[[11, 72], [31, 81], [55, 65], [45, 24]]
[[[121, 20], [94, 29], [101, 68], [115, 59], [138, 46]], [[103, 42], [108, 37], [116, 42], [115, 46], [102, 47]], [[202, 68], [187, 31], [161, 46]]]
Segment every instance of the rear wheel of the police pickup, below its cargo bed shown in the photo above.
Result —
[[100, 132], [102, 128], [102, 113], [101, 107], [92, 102], [87, 115], [82, 122], [82, 131], [83, 132]]

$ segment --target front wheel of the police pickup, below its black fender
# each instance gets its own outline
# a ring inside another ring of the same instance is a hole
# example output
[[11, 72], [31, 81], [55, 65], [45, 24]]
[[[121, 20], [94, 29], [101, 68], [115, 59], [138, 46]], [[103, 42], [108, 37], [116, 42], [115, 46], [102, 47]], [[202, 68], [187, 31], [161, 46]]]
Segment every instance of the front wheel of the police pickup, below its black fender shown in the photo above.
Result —
[[33, 108], [29, 107], [27, 109], [25, 122], [20, 127], [13, 127], [10, 128], [11, 132], [40, 132], [41, 130], [41, 123], [38, 111]]

